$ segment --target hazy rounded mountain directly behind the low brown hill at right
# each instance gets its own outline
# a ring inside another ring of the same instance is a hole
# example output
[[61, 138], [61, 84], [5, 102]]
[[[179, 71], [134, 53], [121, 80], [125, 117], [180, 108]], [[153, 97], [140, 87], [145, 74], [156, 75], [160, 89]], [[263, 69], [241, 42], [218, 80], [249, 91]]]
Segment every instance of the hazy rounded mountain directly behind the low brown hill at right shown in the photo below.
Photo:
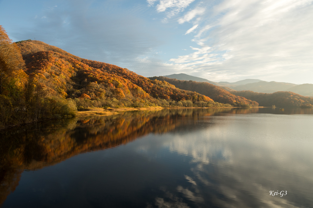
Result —
[[277, 91], [286, 91], [287, 89], [294, 86], [296, 86], [296, 84], [274, 81], [271, 82], [259, 81], [254, 83], [248, 83], [245, 85], [238, 85], [236, 87], [233, 87], [233, 89], [237, 91], [251, 90], [254, 92], [273, 93]]

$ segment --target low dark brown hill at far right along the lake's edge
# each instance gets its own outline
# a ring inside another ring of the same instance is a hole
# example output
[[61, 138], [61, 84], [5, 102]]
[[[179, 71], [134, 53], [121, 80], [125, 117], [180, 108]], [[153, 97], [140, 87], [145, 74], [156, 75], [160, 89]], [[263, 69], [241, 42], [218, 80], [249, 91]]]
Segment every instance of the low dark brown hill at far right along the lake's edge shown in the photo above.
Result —
[[260, 106], [279, 108], [313, 107], [313, 98], [305, 97], [293, 92], [257, 93], [252, 91], [233, 91], [233, 94], [255, 100]]

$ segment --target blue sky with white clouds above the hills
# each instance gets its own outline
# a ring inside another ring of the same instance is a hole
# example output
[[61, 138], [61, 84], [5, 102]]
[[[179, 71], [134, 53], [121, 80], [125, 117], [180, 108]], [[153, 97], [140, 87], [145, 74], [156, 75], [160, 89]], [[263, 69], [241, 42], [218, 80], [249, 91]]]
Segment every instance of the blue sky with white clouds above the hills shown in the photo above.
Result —
[[0, 0], [13, 41], [146, 77], [313, 83], [313, 0]]

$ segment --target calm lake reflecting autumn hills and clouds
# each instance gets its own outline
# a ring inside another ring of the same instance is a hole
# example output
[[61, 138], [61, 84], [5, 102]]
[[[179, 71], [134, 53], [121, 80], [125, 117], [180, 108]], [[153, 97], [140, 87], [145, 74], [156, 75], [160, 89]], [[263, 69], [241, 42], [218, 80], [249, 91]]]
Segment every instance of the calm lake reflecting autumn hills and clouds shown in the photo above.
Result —
[[313, 207], [312, 109], [126, 111], [5, 130], [2, 207]]

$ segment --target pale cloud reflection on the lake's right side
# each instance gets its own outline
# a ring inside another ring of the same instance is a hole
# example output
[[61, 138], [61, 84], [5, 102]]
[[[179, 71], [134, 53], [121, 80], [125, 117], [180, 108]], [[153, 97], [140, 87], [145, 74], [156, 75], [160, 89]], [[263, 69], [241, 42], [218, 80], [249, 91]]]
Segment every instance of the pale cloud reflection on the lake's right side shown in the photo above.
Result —
[[[189, 186], [177, 186], [185, 198], [216, 207], [313, 203], [311, 116], [250, 114], [215, 117], [216, 125], [210, 122], [207, 128], [177, 133], [163, 143], [190, 157], [193, 175], [185, 176]], [[287, 191], [287, 195], [269, 196], [269, 191]]]

